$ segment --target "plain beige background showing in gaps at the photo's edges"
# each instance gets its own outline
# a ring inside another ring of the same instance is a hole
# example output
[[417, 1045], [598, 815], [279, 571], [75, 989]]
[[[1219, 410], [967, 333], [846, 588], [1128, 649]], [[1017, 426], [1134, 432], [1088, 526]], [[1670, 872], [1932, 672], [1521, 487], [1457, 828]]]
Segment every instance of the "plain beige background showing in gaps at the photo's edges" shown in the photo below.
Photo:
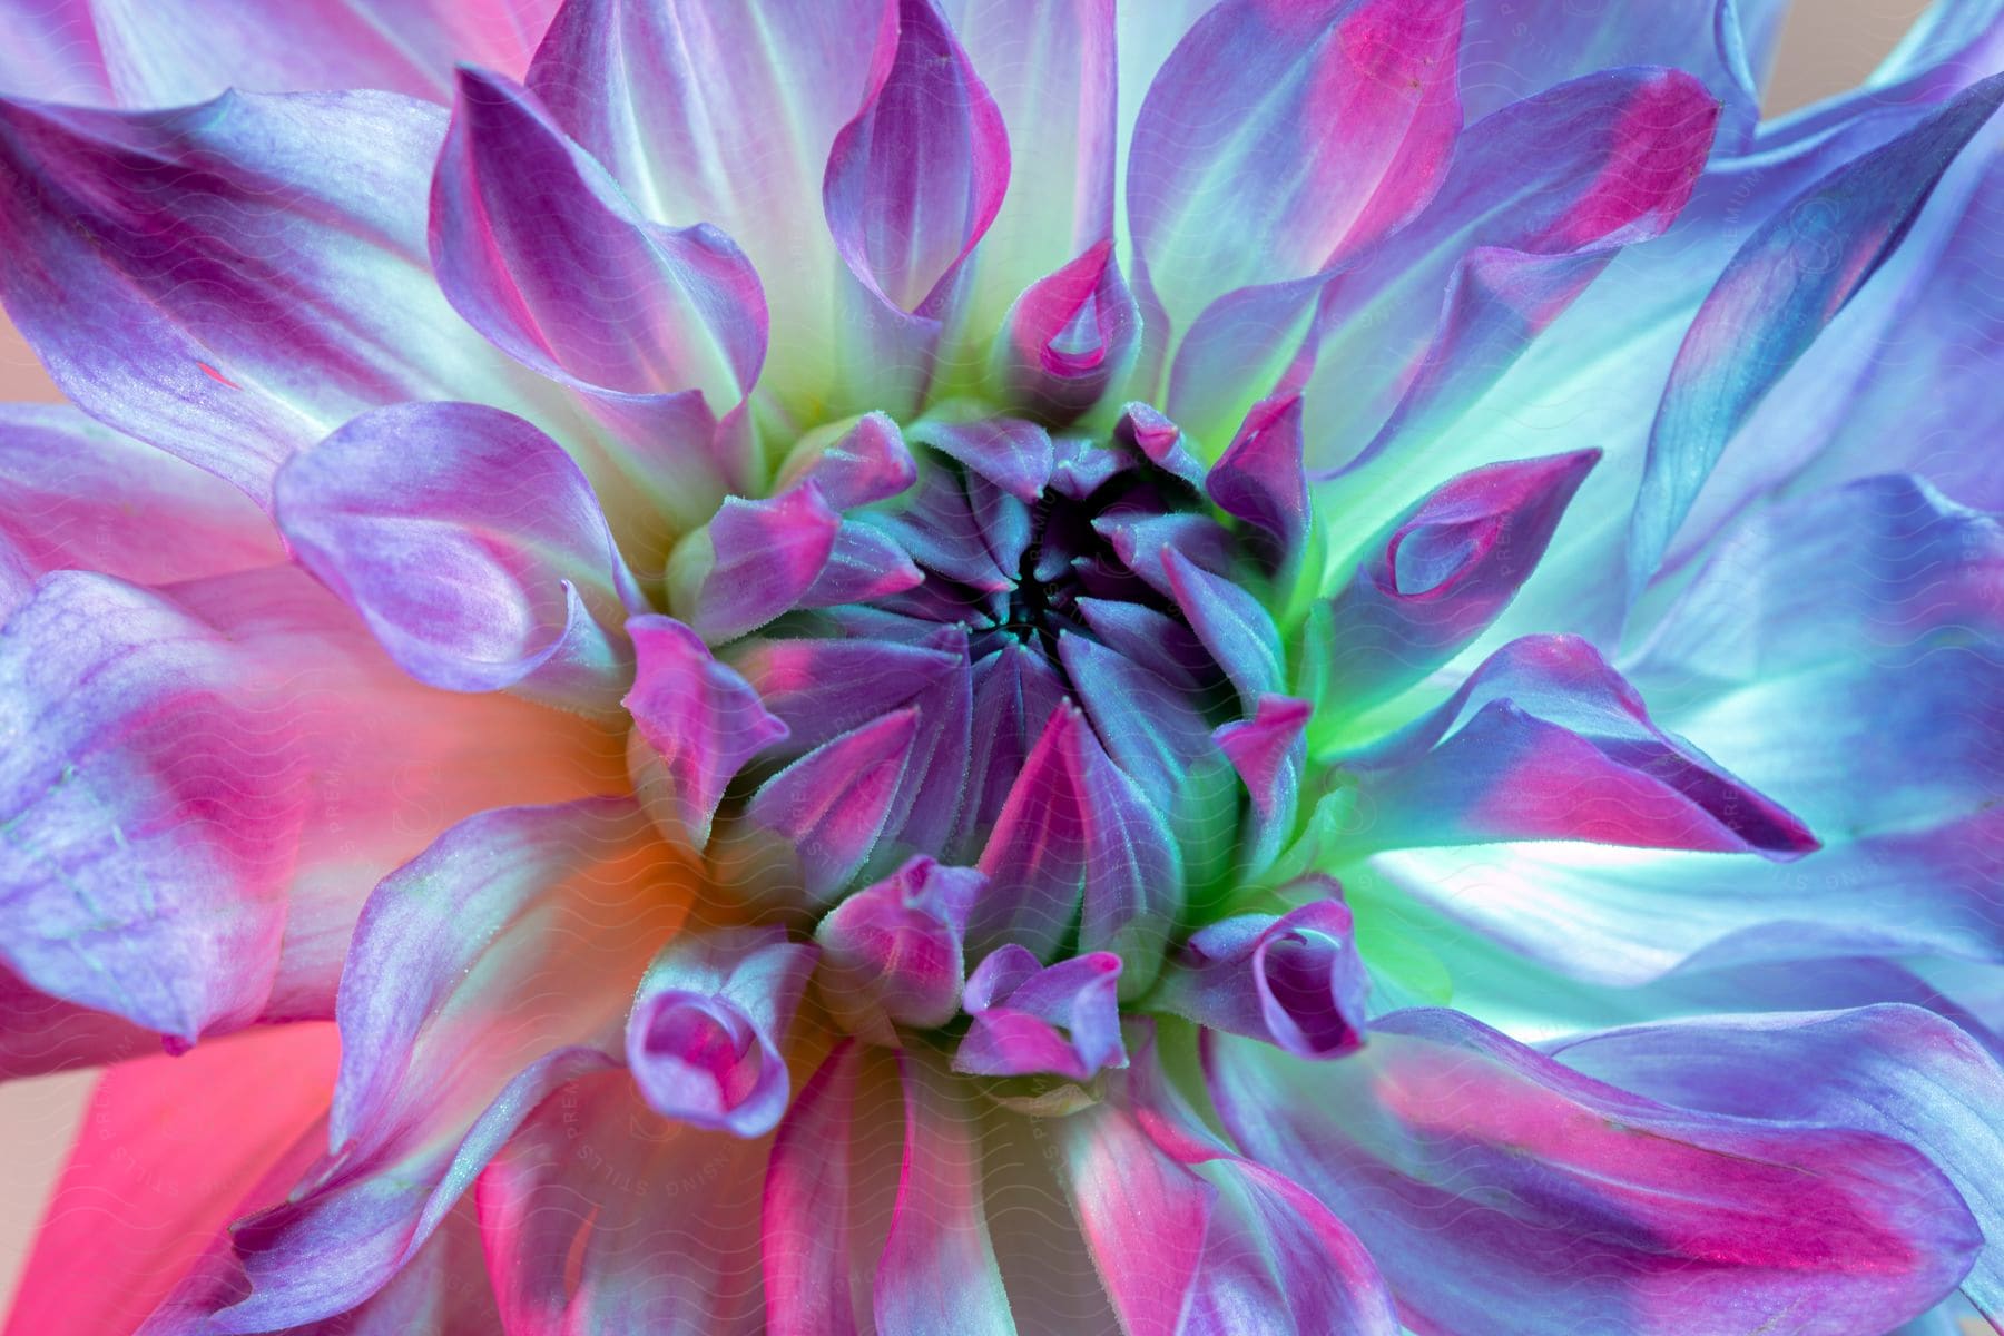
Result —
[[[1782, 30], [1768, 112], [1788, 112], [1856, 84], [1924, 8], [1926, 0], [1796, 0]], [[56, 401], [60, 395], [0, 314], [0, 401], [14, 399]], [[90, 1086], [88, 1072], [0, 1086], [0, 1312], [6, 1312], [36, 1222], [62, 1172]]]

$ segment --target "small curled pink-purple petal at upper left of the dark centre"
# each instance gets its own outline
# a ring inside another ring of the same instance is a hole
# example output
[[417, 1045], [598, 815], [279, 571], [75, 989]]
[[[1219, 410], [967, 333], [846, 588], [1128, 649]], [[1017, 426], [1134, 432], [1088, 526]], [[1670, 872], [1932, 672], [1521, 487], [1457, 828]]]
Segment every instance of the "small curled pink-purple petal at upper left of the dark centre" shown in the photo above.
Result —
[[812, 483], [766, 501], [725, 497], [669, 557], [669, 605], [711, 643], [758, 631], [808, 597], [840, 529]]

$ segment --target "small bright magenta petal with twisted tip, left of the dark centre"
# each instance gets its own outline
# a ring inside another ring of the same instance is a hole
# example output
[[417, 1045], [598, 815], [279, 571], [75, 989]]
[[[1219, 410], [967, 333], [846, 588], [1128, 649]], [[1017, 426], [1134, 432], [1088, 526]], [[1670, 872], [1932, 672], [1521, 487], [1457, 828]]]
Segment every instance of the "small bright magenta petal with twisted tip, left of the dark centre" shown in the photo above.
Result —
[[627, 635], [637, 663], [621, 705], [659, 763], [657, 779], [643, 779], [641, 793], [649, 811], [665, 807], [667, 829], [681, 843], [701, 849], [723, 787], [754, 755], [786, 741], [788, 727], [679, 621], [635, 617]]

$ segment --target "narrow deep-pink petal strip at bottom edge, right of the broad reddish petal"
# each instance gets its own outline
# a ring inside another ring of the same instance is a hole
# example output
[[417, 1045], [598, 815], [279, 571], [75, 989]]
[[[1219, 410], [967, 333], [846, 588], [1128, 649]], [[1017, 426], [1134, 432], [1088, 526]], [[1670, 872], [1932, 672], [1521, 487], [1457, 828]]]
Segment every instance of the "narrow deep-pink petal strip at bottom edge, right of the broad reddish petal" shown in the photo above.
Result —
[[856, 1336], [850, 1120], [860, 1050], [844, 1040], [786, 1112], [766, 1164], [762, 1242], [776, 1332]]

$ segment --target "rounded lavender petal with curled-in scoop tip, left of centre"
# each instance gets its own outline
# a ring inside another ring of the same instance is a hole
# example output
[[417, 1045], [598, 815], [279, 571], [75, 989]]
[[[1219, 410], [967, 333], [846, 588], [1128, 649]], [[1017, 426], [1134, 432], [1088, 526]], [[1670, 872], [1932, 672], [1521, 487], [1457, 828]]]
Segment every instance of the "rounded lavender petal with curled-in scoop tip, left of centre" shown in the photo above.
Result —
[[413, 677], [609, 711], [645, 607], [591, 483], [479, 405], [365, 413], [279, 473], [279, 527]]

